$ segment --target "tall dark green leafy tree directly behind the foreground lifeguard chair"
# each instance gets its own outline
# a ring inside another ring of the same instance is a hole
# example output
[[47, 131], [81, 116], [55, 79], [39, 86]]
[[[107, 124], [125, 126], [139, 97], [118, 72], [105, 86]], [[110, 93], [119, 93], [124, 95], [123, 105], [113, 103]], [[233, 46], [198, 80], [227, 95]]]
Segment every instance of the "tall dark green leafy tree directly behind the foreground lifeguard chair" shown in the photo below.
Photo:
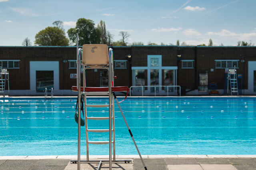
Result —
[[94, 27], [94, 21], [79, 18], [75, 28], [68, 29], [69, 39], [76, 43], [76, 33], [78, 33], [78, 45], [99, 44], [100, 29]]

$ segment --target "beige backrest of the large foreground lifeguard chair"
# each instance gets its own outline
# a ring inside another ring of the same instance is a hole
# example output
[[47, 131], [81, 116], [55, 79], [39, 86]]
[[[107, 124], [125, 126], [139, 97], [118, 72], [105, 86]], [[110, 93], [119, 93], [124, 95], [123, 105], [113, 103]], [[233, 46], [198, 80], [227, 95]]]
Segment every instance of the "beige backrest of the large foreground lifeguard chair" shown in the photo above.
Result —
[[82, 64], [108, 64], [108, 45], [106, 44], [84, 44], [82, 53]]

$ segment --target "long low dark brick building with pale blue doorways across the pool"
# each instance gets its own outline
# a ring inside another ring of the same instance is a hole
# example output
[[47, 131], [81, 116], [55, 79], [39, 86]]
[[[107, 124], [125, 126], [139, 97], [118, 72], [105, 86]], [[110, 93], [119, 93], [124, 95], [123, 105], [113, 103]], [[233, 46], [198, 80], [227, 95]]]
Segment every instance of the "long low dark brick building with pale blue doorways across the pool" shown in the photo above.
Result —
[[[177, 95], [175, 85], [182, 87], [182, 94], [204, 95], [212, 82], [226, 94], [226, 72], [234, 67], [240, 75], [240, 94], [256, 94], [256, 47], [112, 48], [115, 86], [156, 86], [133, 87], [134, 95]], [[9, 71], [10, 95], [43, 95], [45, 87], [68, 95], [76, 86], [76, 47], [0, 47], [0, 66]], [[106, 71], [86, 70], [86, 83], [106, 86]]]

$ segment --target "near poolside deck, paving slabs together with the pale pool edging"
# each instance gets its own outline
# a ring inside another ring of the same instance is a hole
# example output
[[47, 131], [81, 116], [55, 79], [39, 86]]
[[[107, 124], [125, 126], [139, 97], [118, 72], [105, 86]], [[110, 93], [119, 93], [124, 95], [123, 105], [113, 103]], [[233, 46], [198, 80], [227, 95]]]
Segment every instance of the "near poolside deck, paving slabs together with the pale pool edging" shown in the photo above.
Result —
[[[142, 155], [148, 170], [256, 170], [256, 155]], [[108, 160], [108, 155], [90, 156], [92, 160]], [[0, 170], [77, 170], [70, 163], [76, 155], [0, 156]], [[86, 156], [81, 156], [81, 160]], [[138, 155], [118, 155], [116, 160], [132, 159], [130, 163], [112, 163], [112, 170], [144, 170]], [[80, 164], [81, 170], [97, 170], [99, 163]], [[108, 169], [108, 163], [102, 164]]]

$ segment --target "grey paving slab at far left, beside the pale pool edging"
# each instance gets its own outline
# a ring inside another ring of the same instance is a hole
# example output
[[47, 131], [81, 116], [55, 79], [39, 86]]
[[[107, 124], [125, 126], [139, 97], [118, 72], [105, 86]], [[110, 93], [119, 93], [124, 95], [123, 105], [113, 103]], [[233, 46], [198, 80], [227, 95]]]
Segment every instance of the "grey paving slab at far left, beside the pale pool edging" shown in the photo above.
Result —
[[35, 159], [29, 159], [29, 160], [6, 160], [1, 166], [33, 166], [33, 165], [37, 165], [38, 160]]

